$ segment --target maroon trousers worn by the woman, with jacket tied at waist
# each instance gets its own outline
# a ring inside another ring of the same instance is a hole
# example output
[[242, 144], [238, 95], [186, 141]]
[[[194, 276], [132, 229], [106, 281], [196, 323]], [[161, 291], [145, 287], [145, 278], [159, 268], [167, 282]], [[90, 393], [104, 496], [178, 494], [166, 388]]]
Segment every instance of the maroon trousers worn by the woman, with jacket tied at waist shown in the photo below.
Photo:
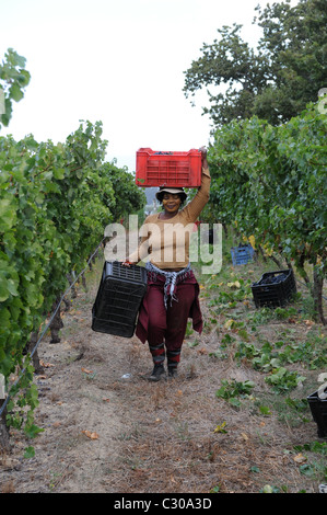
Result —
[[148, 340], [154, 364], [161, 364], [167, 355], [168, 366], [177, 366], [184, 342], [188, 318], [192, 318], [196, 331], [202, 330], [202, 317], [198, 300], [199, 286], [190, 272], [177, 282], [175, 297], [168, 297], [164, 305], [165, 278], [157, 275], [155, 281], [148, 275], [148, 289], [143, 298], [136, 334], [144, 343]]

